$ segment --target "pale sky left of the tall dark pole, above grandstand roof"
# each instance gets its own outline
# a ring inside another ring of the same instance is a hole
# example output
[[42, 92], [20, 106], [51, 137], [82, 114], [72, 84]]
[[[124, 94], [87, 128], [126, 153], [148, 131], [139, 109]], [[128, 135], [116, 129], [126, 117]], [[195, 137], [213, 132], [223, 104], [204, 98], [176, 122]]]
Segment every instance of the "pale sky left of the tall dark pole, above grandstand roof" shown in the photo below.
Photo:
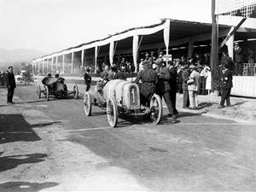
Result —
[[38, 49], [50, 53], [131, 27], [157, 24], [162, 18], [211, 22], [211, 2], [0, 0], [0, 49]]

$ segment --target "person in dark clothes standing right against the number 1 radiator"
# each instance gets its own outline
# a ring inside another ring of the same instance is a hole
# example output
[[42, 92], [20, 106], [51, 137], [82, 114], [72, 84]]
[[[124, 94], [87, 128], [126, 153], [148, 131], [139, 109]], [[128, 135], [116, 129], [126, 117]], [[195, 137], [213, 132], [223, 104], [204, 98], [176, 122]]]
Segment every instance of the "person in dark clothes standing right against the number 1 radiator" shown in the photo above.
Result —
[[140, 79], [143, 82], [140, 86], [140, 97], [142, 105], [146, 107], [145, 119], [148, 118], [150, 99], [154, 95], [155, 84], [158, 80], [157, 73], [152, 69], [149, 61], [143, 61], [143, 70], [137, 73], [137, 79], [134, 80], [134, 83], [138, 84]]

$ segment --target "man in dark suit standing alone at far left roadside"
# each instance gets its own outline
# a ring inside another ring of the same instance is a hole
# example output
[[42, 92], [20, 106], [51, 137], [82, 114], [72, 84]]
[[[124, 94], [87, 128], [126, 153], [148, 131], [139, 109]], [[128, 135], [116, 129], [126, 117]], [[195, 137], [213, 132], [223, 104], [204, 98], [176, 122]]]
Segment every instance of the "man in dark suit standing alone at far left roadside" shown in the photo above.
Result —
[[13, 102], [13, 96], [15, 93], [15, 88], [16, 88], [16, 83], [15, 83], [15, 75], [13, 73], [13, 67], [8, 67], [8, 71], [5, 75], [5, 82], [6, 82], [6, 87], [8, 89], [7, 93], [7, 103], [8, 104], [14, 104]]

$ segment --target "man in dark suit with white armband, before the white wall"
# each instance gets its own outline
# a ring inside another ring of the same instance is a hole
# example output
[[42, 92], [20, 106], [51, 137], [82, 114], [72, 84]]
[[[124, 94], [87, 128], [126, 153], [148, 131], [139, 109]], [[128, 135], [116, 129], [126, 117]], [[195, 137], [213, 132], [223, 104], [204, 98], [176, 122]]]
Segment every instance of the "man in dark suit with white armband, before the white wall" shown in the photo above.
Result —
[[233, 87], [232, 83], [232, 72], [230, 71], [230, 65], [225, 64], [224, 65], [224, 78], [223, 78], [223, 87], [222, 87], [222, 95], [221, 95], [221, 101], [219, 103], [218, 108], [224, 108], [224, 102], [227, 102], [227, 107], [230, 106], [230, 91]]

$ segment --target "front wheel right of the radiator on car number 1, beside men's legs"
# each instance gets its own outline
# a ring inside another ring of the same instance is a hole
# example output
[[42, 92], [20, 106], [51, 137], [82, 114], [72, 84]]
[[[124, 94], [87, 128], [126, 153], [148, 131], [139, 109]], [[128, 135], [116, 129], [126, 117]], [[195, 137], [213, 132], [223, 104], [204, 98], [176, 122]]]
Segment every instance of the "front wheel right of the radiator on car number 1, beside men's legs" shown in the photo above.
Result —
[[150, 119], [157, 125], [163, 114], [162, 100], [159, 95], [154, 94], [150, 100]]

